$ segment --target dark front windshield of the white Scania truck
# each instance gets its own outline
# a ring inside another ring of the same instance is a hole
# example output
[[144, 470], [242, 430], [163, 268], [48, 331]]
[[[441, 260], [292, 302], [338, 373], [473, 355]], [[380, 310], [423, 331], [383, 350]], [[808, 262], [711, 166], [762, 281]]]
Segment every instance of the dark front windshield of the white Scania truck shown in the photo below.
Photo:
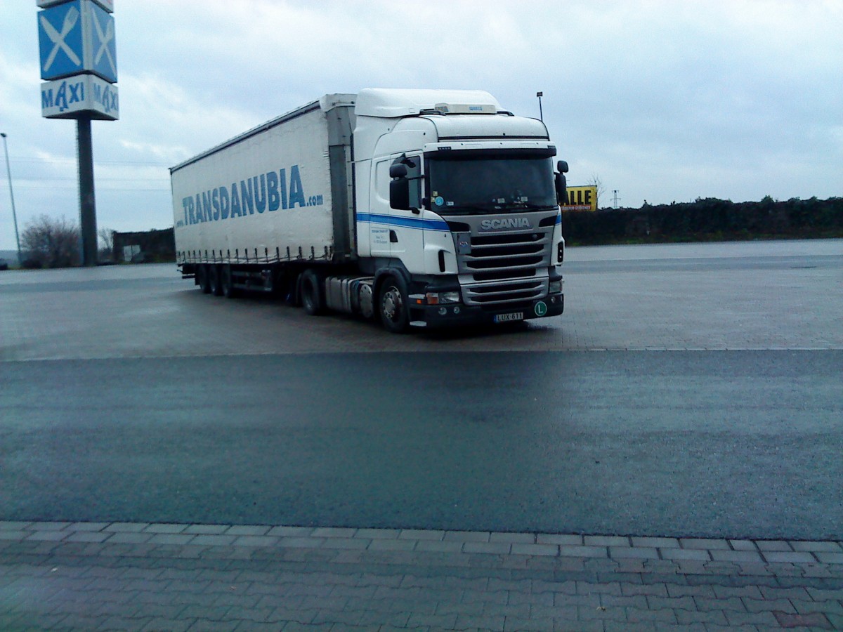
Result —
[[463, 152], [428, 161], [430, 208], [446, 215], [524, 212], [556, 207], [553, 165], [545, 155], [479, 157]]

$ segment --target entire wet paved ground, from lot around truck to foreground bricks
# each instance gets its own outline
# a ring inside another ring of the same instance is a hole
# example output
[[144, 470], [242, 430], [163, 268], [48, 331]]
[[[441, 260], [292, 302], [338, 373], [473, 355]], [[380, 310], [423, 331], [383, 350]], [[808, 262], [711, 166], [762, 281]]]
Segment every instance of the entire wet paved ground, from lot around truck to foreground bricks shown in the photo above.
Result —
[[388, 335], [0, 275], [0, 629], [843, 629], [843, 241], [570, 249]]

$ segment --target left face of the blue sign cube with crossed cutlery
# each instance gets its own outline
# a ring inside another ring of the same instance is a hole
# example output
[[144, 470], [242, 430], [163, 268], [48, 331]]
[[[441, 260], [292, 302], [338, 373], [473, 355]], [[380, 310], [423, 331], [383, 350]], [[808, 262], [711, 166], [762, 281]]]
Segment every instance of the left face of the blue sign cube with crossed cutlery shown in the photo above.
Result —
[[38, 13], [42, 79], [66, 77], [83, 70], [83, 21], [81, 0]]

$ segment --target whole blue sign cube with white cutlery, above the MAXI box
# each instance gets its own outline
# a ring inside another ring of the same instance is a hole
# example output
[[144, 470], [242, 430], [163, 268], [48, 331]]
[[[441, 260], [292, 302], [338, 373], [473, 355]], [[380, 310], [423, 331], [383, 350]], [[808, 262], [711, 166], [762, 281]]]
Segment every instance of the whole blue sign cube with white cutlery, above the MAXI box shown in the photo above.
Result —
[[40, 11], [38, 41], [42, 79], [93, 72], [117, 81], [114, 16], [102, 3], [71, 0]]

